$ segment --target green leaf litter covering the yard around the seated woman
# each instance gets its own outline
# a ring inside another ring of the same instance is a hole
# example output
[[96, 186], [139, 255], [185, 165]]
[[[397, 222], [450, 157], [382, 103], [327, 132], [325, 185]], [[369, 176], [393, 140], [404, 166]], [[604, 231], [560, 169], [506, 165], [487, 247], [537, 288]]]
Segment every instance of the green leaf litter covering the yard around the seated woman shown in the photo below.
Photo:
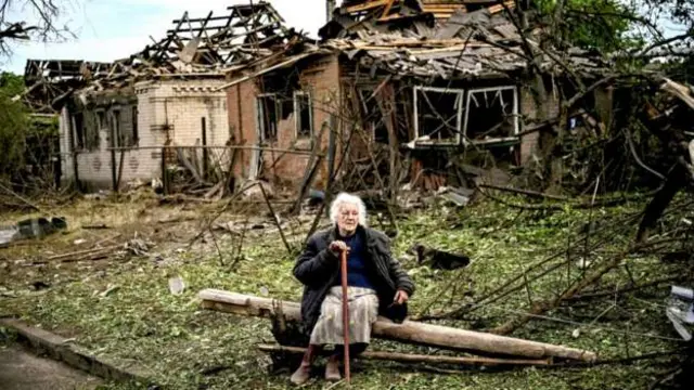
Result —
[[[408, 212], [399, 221], [394, 253], [417, 285], [417, 292], [411, 300], [411, 314], [435, 314], [474, 303], [531, 264], [565, 250], [567, 245], [578, 247], [576, 242], [581, 237], [578, 232], [589, 219], [604, 224], [615, 222], [619, 226], [589, 238], [588, 244], [607, 238], [588, 257], [591, 261], [606, 259], [624, 248], [635, 231], [635, 224], [617, 222], [625, 216], [637, 214], [642, 206], [642, 203], [631, 203], [596, 209], [590, 214], [589, 210], [570, 207], [564, 211], [522, 211], [483, 202], [465, 209], [438, 206]], [[120, 207], [128, 208], [129, 205]], [[380, 226], [376, 224], [375, 227]], [[304, 237], [307, 229], [308, 224], [294, 226], [294, 242]], [[0, 273], [5, 276], [0, 277], [0, 286], [14, 292], [13, 298], [0, 300], [0, 314], [17, 315], [74, 337], [75, 342], [92, 353], [115, 359], [124, 366], [143, 367], [152, 373], [154, 381], [168, 388], [291, 388], [288, 375], [290, 368], [294, 367], [272, 372], [270, 358], [255, 349], [257, 343], [273, 342], [270, 322], [204, 311], [196, 294], [204, 288], [219, 288], [298, 301], [301, 286], [292, 276], [294, 259], [290, 258], [274, 231], [247, 237], [243, 259], [231, 269], [230, 259], [235, 253], [237, 237], [217, 233], [216, 239], [226, 261], [220, 261], [217, 249], [208, 240], [190, 249], [165, 250], [162, 252], [165, 261], [155, 261], [153, 256], [110, 260], [98, 271], [89, 266], [73, 268], [68, 276], [64, 274], [66, 270], [57, 268], [53, 270], [55, 276], [40, 274], [43, 278], [61, 281], [42, 291], [25, 288], [26, 283], [38, 277], [35, 274], [26, 273], [26, 280], [20, 281], [14, 276], [7, 277], [7, 272]], [[473, 261], [466, 269], [432, 270], [417, 264], [407, 253], [414, 243], [464, 252]], [[557, 262], [563, 259], [565, 257]], [[660, 262], [656, 256], [632, 256], [624, 266], [608, 273], [601, 286], [626, 286], [632, 277], [644, 282], [677, 274], [677, 266]], [[526, 312], [530, 307], [529, 299], [535, 302], [554, 297], [566, 288], [568, 278], [581, 272], [575, 261], [561, 270], [531, 282], [529, 291], [519, 289], [462, 318], [437, 323], [470, 329], [499, 325]], [[185, 283], [180, 295], [169, 291], [168, 280], [172, 276], [180, 276]], [[558, 321], [536, 320], [513, 336], [592, 350], [601, 359], [669, 351], [681, 347], [681, 342], [677, 341], [664, 313], [667, 291], [668, 286], [661, 285], [659, 289], [627, 295], [619, 300], [606, 297], [562, 304], [547, 314]], [[446, 353], [381, 340], [371, 348]], [[637, 389], [647, 387], [668, 364], [671, 362], [666, 359], [592, 367], [501, 370], [458, 367], [452, 372], [455, 367], [361, 361], [355, 364], [352, 388]], [[321, 379], [320, 362], [317, 367], [317, 377], [306, 386], [308, 389], [330, 386]], [[134, 389], [138, 386], [111, 384], [104, 388]]]

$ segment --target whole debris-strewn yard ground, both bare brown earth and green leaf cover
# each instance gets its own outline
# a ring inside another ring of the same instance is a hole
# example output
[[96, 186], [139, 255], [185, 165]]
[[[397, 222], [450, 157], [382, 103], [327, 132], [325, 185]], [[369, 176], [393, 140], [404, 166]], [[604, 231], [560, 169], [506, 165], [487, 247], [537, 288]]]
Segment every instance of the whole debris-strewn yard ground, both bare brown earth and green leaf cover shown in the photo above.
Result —
[[[277, 203], [273, 208], [281, 210], [283, 206]], [[566, 265], [551, 274], [553, 277], [531, 280], [530, 288], [519, 288], [458, 320], [441, 323], [485, 329], [515, 317], [526, 312], [530, 302], [562, 291], [567, 277], [580, 275], [589, 261], [600, 263], [615, 256], [633, 236], [633, 221], [642, 206], [643, 199], [637, 199], [593, 210], [570, 205], [555, 210], [520, 210], [480, 200], [463, 209], [437, 205], [403, 212], [394, 253], [417, 286], [411, 314], [426, 316], [473, 303], [519, 272], [530, 272], [531, 264], [565, 252], [567, 246], [578, 247], [579, 237], [583, 237], [580, 247], [597, 248], [590, 250], [588, 260], [581, 259], [576, 249], [570, 251], [569, 261], [562, 260], [564, 256], [560, 262], [548, 261], [537, 270]], [[41, 240], [0, 249], [0, 315], [20, 316], [74, 338], [97, 355], [107, 355], [126, 366], [138, 365], [152, 373], [156, 382], [171, 388], [290, 388], [288, 374], [294, 367], [273, 367], [271, 359], [255, 349], [258, 343], [273, 342], [270, 323], [202, 310], [196, 294], [219, 288], [299, 300], [301, 287], [292, 276], [292, 266], [312, 213], [280, 219], [293, 247], [290, 251], [274, 222], [267, 218], [267, 206], [258, 199], [233, 205], [226, 200], [163, 204], [154, 195], [140, 192], [47, 206], [42, 211], [65, 216], [68, 229]], [[23, 217], [7, 213], [0, 218], [0, 225]], [[213, 217], [219, 223], [210, 224]], [[377, 229], [382, 227], [381, 220], [387, 219], [377, 213], [370, 219]], [[586, 235], [580, 235], [580, 230], [589, 221], [608, 229], [583, 243]], [[107, 229], [83, 229], [98, 224]], [[246, 233], [242, 233], [244, 226], [249, 229]], [[597, 247], [601, 240], [606, 244]], [[126, 243], [130, 243], [127, 248]], [[140, 245], [133, 246], [137, 243]], [[472, 264], [455, 271], [432, 270], [407, 253], [414, 243], [465, 252]], [[83, 257], [86, 249], [116, 245], [106, 250], [105, 257]], [[75, 252], [79, 253], [56, 257]], [[239, 252], [241, 256], [236, 256]], [[630, 256], [622, 265], [591, 290], [617, 289], [630, 280], [641, 284], [682, 273], [652, 255]], [[169, 290], [174, 277], [183, 281], [182, 294]], [[532, 321], [513, 336], [592, 350], [601, 360], [667, 352], [681, 347], [664, 314], [668, 290], [669, 285], [660, 284], [618, 301], [573, 301], [548, 313], [552, 321]], [[441, 353], [385, 341], [376, 341], [371, 348]], [[646, 388], [672, 362], [666, 355], [590, 367], [451, 370], [455, 367], [364, 361], [356, 364], [352, 388], [635, 389]], [[327, 387], [319, 380], [320, 373], [319, 368], [308, 388]]]

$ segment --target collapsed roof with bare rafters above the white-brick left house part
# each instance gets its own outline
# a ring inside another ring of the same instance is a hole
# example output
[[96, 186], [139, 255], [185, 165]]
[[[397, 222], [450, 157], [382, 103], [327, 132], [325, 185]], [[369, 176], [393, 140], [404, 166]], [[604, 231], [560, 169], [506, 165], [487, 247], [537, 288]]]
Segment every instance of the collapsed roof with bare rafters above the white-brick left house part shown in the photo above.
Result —
[[25, 96], [33, 106], [50, 106], [57, 103], [56, 98], [82, 88], [100, 91], [165, 77], [223, 78], [239, 66], [253, 65], [306, 40], [285, 27], [280, 14], [264, 1], [232, 5], [223, 14], [210, 11], [202, 17], [185, 12], [165, 38], [150, 38], [153, 43], [142, 51], [113, 63], [29, 60]]

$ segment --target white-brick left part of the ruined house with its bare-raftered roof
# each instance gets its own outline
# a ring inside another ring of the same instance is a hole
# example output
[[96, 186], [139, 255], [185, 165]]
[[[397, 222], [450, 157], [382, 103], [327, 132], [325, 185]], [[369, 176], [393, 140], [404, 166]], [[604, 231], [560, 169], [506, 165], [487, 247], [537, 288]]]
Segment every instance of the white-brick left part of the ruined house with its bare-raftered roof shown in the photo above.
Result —
[[165, 38], [69, 89], [60, 114], [63, 178], [117, 188], [185, 166], [204, 182], [232, 143], [224, 75], [298, 39], [266, 2], [184, 13]]

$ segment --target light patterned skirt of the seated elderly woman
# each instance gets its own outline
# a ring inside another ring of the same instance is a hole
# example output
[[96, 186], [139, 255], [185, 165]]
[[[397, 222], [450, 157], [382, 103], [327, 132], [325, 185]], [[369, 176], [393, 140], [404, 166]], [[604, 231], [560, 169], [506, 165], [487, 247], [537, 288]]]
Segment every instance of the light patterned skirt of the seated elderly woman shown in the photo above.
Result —
[[[364, 287], [347, 287], [349, 303], [349, 342], [369, 343], [371, 325], [378, 316], [376, 291]], [[312, 344], [344, 344], [343, 336], [343, 288], [330, 289], [323, 303], [321, 315], [311, 332]]]

